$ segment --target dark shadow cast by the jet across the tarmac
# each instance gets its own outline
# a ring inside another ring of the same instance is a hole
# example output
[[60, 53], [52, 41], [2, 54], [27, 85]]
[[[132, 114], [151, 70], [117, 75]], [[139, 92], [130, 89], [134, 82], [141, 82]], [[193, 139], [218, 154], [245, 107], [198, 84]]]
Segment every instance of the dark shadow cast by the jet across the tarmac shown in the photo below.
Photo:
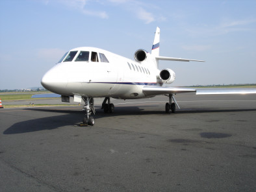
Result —
[[[115, 108], [113, 114], [105, 114], [100, 108], [96, 108], [96, 115], [94, 117], [97, 119], [105, 117], [116, 117], [116, 116], [126, 116], [126, 115], [172, 115], [166, 114], [163, 110], [145, 110], [147, 107], [154, 106], [120, 106]], [[27, 121], [22, 121], [15, 123], [14, 125], [7, 128], [3, 134], [21, 134], [27, 132], [36, 132], [40, 130], [52, 130], [55, 128], [60, 128], [62, 126], [68, 125], [79, 125], [84, 117], [84, 112], [79, 110], [62, 110], [61, 108], [29, 108], [25, 110], [32, 110], [38, 112], [51, 112], [64, 115], [53, 115], [51, 117], [42, 117], [38, 119], [31, 119]], [[220, 112], [253, 112], [256, 109], [205, 109], [205, 108], [190, 108], [177, 110], [175, 115], [179, 114], [197, 114], [197, 113], [220, 113]]]

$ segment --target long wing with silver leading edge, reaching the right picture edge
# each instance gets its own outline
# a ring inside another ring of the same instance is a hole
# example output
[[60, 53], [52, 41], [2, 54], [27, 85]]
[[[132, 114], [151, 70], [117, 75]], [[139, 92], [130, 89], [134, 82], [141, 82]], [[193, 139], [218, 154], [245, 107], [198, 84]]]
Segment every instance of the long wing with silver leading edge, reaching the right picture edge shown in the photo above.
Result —
[[218, 94], [256, 94], [256, 89], [235, 89], [235, 88], [179, 88], [144, 86], [142, 91], [146, 95], [163, 95], [175, 93], [196, 92], [196, 95], [218, 95]]

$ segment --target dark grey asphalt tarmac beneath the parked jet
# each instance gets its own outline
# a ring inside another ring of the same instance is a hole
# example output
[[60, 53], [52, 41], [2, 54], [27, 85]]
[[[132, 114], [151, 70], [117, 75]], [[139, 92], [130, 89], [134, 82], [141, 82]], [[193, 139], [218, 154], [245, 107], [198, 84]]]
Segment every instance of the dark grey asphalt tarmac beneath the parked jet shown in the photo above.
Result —
[[256, 95], [176, 99], [0, 109], [0, 191], [256, 191]]

